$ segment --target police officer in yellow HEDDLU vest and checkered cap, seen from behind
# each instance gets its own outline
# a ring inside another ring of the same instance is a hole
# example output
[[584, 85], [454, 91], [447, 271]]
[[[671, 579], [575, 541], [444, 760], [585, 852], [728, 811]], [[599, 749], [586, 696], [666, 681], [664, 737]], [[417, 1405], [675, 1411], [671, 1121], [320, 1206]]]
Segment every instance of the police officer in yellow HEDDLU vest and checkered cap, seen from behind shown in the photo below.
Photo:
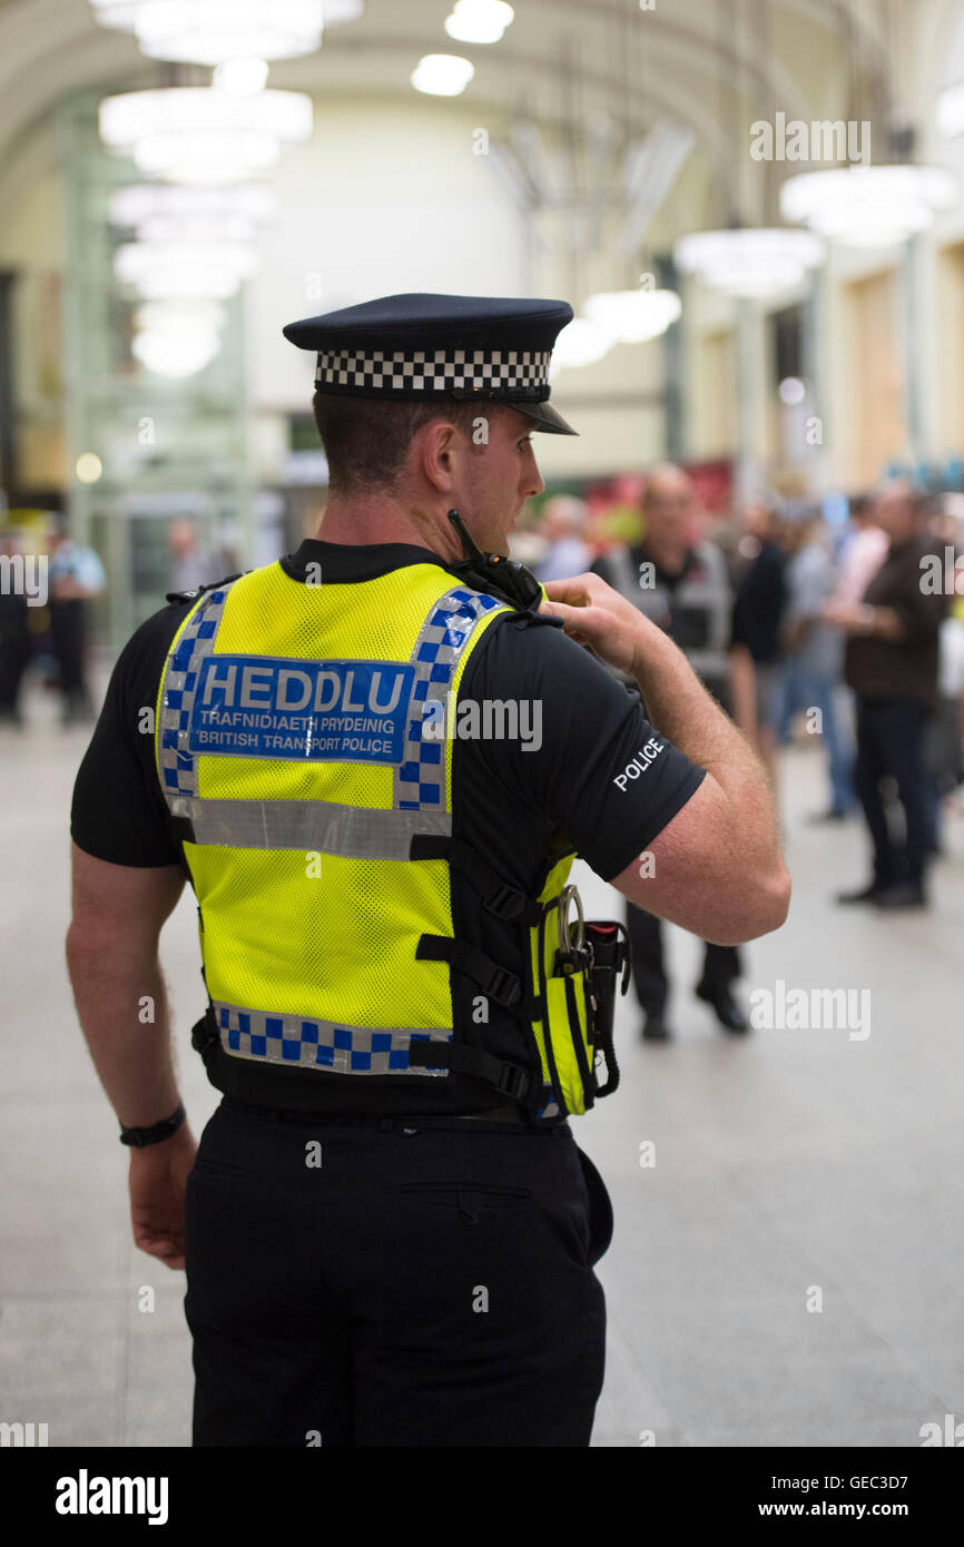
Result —
[[[532, 432], [574, 433], [571, 316], [393, 295], [289, 325], [320, 534], [149, 619], [77, 777], [68, 959], [135, 1241], [187, 1269], [195, 1445], [588, 1445], [613, 1221], [569, 1117], [616, 1083], [619, 953], [573, 855], [704, 937], [786, 914], [764, 778], [676, 647], [596, 575], [546, 599], [508, 558]], [[223, 1092], [200, 1148], [158, 965], [186, 877]]]

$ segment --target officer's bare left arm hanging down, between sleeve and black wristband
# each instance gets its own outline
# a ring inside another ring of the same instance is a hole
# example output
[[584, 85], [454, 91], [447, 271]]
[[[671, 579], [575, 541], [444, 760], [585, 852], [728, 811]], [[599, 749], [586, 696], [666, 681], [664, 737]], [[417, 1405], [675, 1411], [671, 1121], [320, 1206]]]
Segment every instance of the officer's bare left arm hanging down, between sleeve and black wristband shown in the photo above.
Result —
[[183, 886], [178, 865], [108, 865], [73, 845], [67, 964], [87, 1046], [124, 1128], [150, 1128], [178, 1105], [158, 939]]

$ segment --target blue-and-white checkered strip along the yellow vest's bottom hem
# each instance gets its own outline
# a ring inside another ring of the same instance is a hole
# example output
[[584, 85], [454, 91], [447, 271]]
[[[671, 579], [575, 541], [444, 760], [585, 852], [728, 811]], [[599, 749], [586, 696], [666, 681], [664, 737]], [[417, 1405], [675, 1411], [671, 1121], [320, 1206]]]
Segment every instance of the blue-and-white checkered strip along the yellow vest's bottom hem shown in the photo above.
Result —
[[452, 1027], [345, 1026], [300, 1015], [268, 1015], [214, 999], [221, 1047], [232, 1058], [322, 1069], [328, 1074], [413, 1074], [446, 1077], [446, 1069], [412, 1069], [413, 1041], [452, 1041]]

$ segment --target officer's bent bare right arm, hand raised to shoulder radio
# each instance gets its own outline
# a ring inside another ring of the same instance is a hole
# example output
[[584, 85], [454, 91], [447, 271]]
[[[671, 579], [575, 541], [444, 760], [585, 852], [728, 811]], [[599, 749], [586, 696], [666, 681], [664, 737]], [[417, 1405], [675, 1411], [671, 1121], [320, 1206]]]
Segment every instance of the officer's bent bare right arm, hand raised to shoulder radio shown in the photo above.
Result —
[[566, 634], [631, 673], [653, 726], [707, 770], [696, 794], [650, 843], [651, 862], [633, 860], [613, 885], [630, 902], [715, 945], [741, 945], [778, 930], [791, 882], [755, 752], [682, 651], [599, 575], [554, 582], [546, 594], [546, 611], [563, 619]]

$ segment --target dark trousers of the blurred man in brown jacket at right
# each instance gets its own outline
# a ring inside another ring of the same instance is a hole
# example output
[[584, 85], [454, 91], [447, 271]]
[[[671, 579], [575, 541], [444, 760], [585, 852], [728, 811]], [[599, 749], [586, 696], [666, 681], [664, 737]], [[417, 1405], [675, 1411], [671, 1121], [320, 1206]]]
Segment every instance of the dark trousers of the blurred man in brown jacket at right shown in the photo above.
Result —
[[[874, 845], [874, 880], [922, 882], [932, 848], [930, 780], [924, 739], [932, 710], [918, 698], [857, 698], [854, 786]], [[880, 781], [897, 786], [904, 834], [891, 832]]]

